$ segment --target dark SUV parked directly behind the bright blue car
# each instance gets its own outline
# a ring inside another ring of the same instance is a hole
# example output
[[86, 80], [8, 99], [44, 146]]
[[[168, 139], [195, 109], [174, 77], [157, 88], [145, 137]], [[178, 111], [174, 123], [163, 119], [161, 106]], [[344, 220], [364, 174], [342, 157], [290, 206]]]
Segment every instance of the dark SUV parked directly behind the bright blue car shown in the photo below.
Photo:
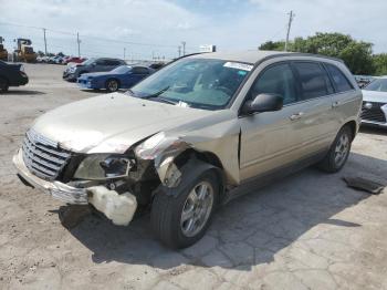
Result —
[[63, 79], [66, 81], [74, 82], [84, 73], [90, 72], [108, 72], [113, 69], [125, 65], [126, 62], [119, 59], [90, 59], [83, 63], [76, 63], [67, 66], [63, 72]]

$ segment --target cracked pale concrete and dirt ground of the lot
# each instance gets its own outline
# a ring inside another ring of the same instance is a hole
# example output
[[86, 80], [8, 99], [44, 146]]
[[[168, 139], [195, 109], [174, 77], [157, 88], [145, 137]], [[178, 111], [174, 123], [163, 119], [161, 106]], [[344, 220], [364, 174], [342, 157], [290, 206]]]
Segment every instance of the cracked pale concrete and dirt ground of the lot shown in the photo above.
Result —
[[63, 66], [25, 69], [30, 83], [0, 95], [0, 289], [387, 289], [387, 190], [342, 180], [387, 183], [387, 131], [360, 132], [338, 174], [305, 169], [232, 201], [202, 240], [172, 251], [148, 216], [67, 230], [63, 205], [19, 182], [11, 157], [32, 121], [95, 95], [62, 81]]

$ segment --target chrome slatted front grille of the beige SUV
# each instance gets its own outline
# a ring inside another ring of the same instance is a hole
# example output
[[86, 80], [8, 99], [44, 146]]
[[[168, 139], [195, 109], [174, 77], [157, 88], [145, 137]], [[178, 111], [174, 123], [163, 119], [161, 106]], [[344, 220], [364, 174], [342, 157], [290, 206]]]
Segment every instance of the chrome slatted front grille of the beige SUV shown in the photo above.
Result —
[[23, 143], [23, 159], [25, 166], [36, 176], [54, 180], [61, 174], [70, 159], [70, 152], [59, 148], [52, 142], [30, 130]]

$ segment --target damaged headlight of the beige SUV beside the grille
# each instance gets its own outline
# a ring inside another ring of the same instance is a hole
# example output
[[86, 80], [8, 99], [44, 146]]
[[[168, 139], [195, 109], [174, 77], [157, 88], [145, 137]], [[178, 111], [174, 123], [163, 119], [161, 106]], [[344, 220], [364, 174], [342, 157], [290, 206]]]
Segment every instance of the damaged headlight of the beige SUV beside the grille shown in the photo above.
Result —
[[74, 178], [107, 179], [128, 175], [135, 160], [127, 156], [115, 154], [95, 154], [87, 156], [77, 167]]

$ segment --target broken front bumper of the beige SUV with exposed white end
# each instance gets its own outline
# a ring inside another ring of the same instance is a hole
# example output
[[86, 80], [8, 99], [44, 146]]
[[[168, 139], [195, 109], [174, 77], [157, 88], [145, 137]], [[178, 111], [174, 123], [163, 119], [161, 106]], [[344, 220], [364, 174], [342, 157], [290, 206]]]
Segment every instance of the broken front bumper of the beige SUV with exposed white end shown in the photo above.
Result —
[[97, 210], [109, 218], [114, 225], [127, 226], [137, 209], [136, 197], [130, 193], [119, 195], [115, 190], [108, 190], [104, 186], [77, 188], [61, 182], [48, 182], [30, 173], [27, 168], [22, 149], [13, 156], [12, 162], [23, 183], [50, 194], [55, 199], [71, 205], [93, 205]]

